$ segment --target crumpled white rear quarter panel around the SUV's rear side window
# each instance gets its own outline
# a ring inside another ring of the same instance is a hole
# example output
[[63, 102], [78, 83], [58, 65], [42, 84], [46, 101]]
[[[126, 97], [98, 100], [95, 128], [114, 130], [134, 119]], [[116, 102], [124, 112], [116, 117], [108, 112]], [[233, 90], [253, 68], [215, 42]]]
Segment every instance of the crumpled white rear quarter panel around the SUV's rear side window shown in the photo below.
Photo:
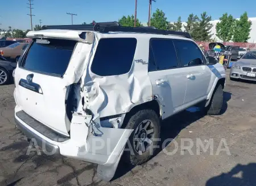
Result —
[[[92, 57], [86, 67], [86, 73], [82, 77], [84, 86], [91, 82], [93, 86], [98, 88], [97, 98], [88, 99], [85, 104], [94, 114], [99, 113], [100, 117], [126, 113], [133, 106], [152, 100], [152, 86], [148, 77], [148, 56], [144, 55], [148, 53], [149, 39], [136, 38], [137, 48], [135, 49], [133, 64], [128, 73], [102, 77], [94, 74], [91, 71], [91, 66], [98, 42], [106, 37], [117, 38], [117, 35], [96, 34]], [[118, 34], [118, 38], [127, 38], [127, 34]], [[130, 38], [133, 38], [133, 35]], [[120, 65], [122, 65], [122, 61], [120, 61]], [[91, 90], [93, 91], [93, 89]]]

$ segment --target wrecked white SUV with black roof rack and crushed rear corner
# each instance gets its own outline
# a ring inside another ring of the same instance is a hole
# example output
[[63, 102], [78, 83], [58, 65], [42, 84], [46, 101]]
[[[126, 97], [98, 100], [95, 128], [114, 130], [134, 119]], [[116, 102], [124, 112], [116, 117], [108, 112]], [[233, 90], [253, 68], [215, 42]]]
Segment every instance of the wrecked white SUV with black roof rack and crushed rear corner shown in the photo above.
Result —
[[16, 125], [45, 153], [97, 163], [110, 180], [124, 151], [133, 165], [151, 157], [163, 119], [201, 102], [220, 113], [224, 67], [186, 32], [43, 28], [27, 34], [14, 97]]

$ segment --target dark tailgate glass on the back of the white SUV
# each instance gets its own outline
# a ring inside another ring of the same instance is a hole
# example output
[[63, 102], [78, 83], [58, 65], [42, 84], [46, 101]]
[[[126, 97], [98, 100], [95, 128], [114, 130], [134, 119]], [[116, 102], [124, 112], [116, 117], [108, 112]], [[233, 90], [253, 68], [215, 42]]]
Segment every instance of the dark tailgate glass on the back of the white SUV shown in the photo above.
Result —
[[34, 42], [23, 59], [22, 67], [29, 71], [63, 76], [71, 59], [76, 41], [47, 39]]

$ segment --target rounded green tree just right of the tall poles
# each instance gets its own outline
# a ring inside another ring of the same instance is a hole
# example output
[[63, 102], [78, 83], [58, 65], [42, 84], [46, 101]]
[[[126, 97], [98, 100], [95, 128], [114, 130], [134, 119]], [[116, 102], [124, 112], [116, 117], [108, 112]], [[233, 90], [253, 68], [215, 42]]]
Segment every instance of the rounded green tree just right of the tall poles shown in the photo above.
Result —
[[151, 26], [158, 29], [168, 30], [169, 24], [166, 18], [166, 14], [162, 10], [156, 9], [151, 18]]

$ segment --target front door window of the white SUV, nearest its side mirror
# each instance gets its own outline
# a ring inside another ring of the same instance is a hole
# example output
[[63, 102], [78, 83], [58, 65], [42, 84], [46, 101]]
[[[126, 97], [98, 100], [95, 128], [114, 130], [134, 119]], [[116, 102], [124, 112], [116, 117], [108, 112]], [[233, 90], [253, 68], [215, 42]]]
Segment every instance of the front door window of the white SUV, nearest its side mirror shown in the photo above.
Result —
[[193, 42], [175, 40], [175, 47], [183, 67], [204, 64], [201, 49]]

